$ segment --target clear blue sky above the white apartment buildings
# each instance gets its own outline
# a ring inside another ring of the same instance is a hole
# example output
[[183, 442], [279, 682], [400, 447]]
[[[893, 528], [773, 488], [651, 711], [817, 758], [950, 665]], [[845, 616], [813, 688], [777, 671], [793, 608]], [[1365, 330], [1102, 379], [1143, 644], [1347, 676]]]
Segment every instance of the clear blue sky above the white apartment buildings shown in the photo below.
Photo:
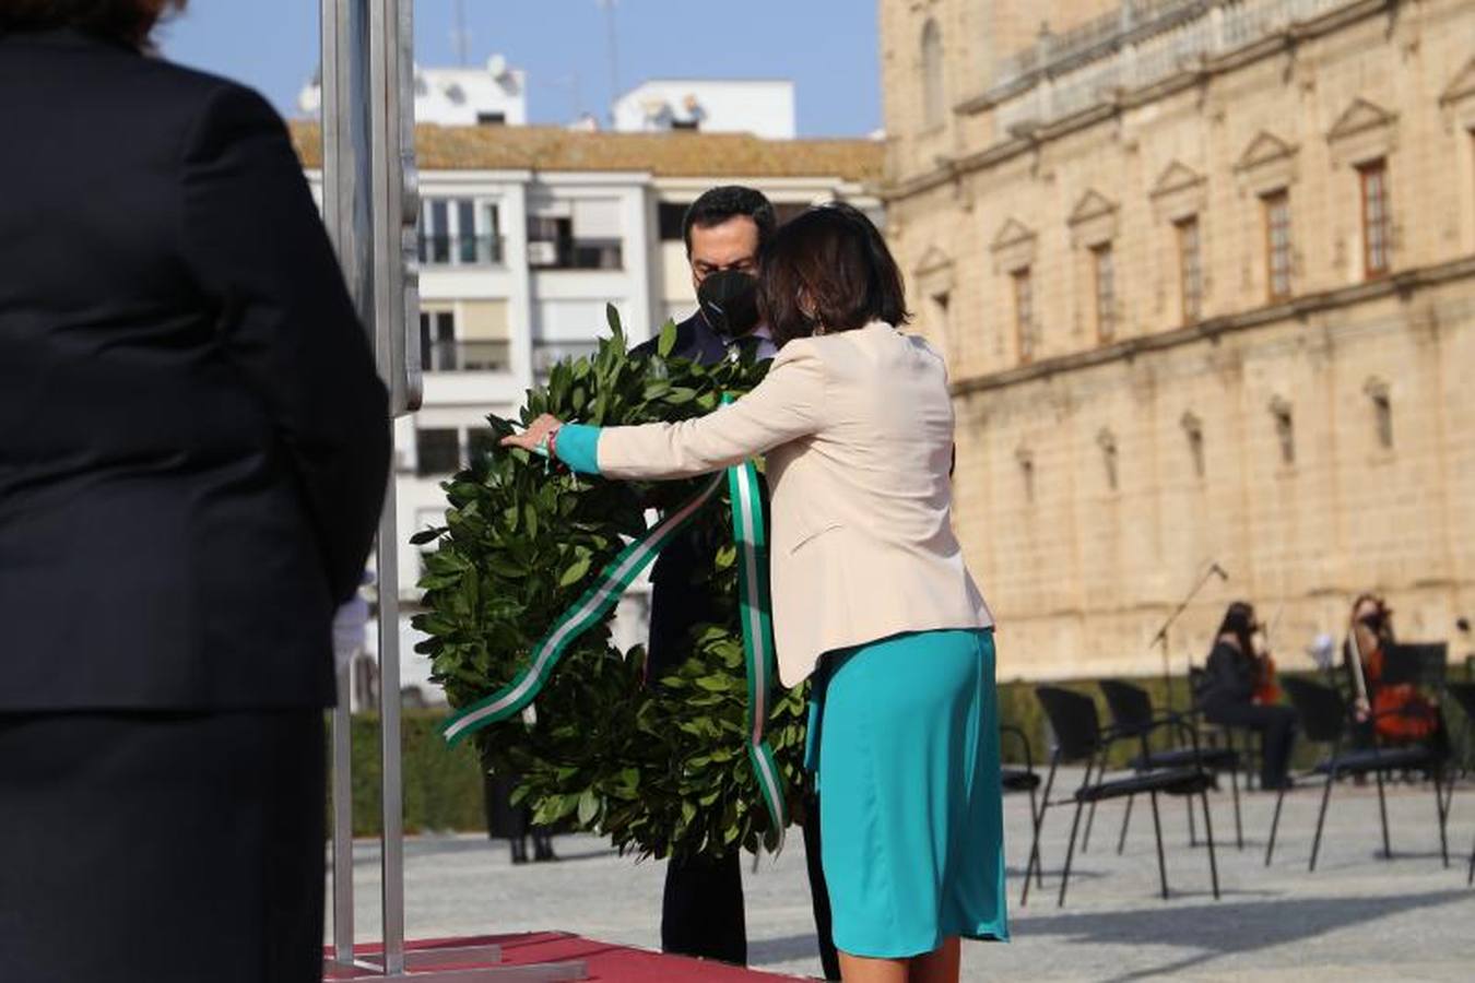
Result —
[[[471, 63], [497, 52], [525, 69], [532, 122], [606, 115], [609, 32], [597, 0], [463, 4]], [[317, 66], [317, 0], [193, 0], [161, 41], [171, 59], [242, 80], [295, 115]], [[419, 63], [456, 63], [454, 10], [456, 0], [416, 0]], [[881, 125], [875, 0], [618, 0], [615, 24], [622, 90], [658, 77], [789, 78], [801, 136]]]

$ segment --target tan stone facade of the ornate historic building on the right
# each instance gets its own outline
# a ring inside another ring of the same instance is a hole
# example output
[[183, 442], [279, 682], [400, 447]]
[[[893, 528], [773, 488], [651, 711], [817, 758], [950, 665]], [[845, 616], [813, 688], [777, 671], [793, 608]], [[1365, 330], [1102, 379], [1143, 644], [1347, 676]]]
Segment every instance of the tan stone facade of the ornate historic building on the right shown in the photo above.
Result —
[[881, 0], [888, 234], [1000, 676], [1475, 613], [1475, 4]]

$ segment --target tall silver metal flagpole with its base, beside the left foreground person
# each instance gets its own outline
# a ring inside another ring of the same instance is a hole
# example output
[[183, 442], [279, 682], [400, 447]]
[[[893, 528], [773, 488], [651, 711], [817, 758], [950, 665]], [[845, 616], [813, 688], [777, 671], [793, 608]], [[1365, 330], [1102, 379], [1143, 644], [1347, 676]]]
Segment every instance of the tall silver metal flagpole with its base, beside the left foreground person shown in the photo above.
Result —
[[[322, 0], [323, 220], [389, 389], [389, 420], [420, 405], [413, 0]], [[333, 713], [333, 959], [416, 983], [581, 980], [583, 961], [441, 970], [500, 961], [497, 946], [406, 951], [400, 747], [400, 567], [394, 476], [379, 520], [378, 628], [382, 775], [382, 955], [354, 958], [351, 675]]]

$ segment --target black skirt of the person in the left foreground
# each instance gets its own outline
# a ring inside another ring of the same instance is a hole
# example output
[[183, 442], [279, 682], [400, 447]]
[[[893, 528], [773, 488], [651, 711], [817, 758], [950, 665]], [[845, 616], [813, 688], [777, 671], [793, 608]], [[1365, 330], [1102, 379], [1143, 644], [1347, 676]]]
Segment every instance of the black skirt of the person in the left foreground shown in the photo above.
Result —
[[0, 976], [323, 976], [320, 709], [0, 713]]

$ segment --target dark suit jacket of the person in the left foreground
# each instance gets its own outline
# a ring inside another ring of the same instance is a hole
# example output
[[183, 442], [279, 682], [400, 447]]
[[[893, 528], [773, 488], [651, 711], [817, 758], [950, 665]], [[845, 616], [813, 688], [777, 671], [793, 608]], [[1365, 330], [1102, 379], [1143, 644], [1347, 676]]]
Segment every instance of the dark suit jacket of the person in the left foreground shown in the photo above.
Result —
[[332, 702], [384, 386], [277, 115], [0, 35], [0, 712]]

